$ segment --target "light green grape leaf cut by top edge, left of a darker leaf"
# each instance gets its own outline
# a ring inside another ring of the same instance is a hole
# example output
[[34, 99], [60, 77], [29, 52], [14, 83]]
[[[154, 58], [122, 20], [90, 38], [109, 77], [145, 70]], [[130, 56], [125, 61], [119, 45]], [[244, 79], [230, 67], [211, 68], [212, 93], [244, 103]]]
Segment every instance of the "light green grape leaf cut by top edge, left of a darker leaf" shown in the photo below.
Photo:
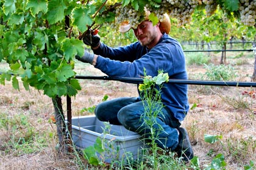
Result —
[[29, 0], [27, 1], [26, 10], [30, 9], [31, 15], [35, 17], [39, 12], [46, 13], [48, 10], [47, 1], [45, 0]]

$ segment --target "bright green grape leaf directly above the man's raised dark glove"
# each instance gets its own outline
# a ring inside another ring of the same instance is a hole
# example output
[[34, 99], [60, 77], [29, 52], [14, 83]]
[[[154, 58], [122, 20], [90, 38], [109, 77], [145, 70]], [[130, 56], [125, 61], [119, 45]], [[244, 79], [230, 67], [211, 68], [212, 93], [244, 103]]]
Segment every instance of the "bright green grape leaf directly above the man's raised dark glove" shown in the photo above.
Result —
[[93, 13], [93, 11], [82, 7], [73, 10], [73, 25], [76, 25], [80, 32], [85, 32], [85, 30], [87, 30], [87, 25], [93, 24], [93, 20], [90, 17], [91, 13]]

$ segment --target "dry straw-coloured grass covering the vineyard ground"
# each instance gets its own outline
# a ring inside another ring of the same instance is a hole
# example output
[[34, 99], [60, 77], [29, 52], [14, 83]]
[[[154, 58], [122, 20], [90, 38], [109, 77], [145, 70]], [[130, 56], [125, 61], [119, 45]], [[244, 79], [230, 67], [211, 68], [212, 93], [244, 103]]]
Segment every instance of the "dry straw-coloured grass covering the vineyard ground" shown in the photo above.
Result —
[[[250, 81], [246, 75], [252, 75], [253, 63], [254, 59], [251, 58], [242, 65], [234, 65], [240, 73], [239, 81]], [[83, 64], [77, 64], [76, 69], [79, 75], [104, 75]], [[188, 66], [187, 69], [190, 75], [204, 72], [202, 66]], [[80, 80], [80, 83], [82, 90], [72, 98], [73, 116], [87, 115], [88, 113], [81, 113], [80, 110], [100, 103], [104, 95], [108, 95], [108, 99], [137, 96], [135, 84], [102, 80]], [[199, 157], [202, 169], [204, 165], [210, 164], [216, 154], [225, 155], [227, 169], [243, 169], [250, 160], [256, 163], [256, 102], [255, 98], [242, 95], [243, 91], [251, 90], [255, 89], [190, 85], [190, 104], [192, 106], [196, 103], [197, 107], [190, 110], [182, 126], [188, 129], [194, 154]], [[11, 127], [9, 130], [1, 129], [0, 169], [77, 169], [76, 158], [72, 155], [59, 155], [55, 149], [57, 137], [55, 124], [51, 121], [51, 116], [54, 115], [51, 99], [32, 88], [30, 92], [23, 88], [18, 92], [12, 88], [10, 82], [6, 82], [5, 86], [0, 85], [0, 91], [1, 114], [8, 117], [26, 115], [35, 133], [47, 136], [43, 145], [38, 142], [31, 143], [34, 146], [40, 145], [39, 149], [21, 153], [18, 149], [6, 146], [12, 140], [10, 133], [15, 133], [10, 131]], [[65, 97], [63, 108], [66, 108]], [[222, 135], [222, 140], [215, 144], [205, 143], [204, 134]], [[6, 152], [7, 149], [12, 152]]]

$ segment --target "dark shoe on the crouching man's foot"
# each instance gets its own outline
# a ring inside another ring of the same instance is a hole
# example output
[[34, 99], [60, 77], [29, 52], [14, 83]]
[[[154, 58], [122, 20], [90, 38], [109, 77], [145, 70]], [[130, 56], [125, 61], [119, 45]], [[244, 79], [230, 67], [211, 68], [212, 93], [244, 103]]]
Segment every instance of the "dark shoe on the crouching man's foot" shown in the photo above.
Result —
[[183, 161], [187, 162], [194, 157], [194, 152], [190, 144], [190, 138], [188, 137], [188, 132], [183, 127], [177, 128], [179, 131], [179, 144], [175, 152], [177, 152], [178, 157], [183, 157]]

